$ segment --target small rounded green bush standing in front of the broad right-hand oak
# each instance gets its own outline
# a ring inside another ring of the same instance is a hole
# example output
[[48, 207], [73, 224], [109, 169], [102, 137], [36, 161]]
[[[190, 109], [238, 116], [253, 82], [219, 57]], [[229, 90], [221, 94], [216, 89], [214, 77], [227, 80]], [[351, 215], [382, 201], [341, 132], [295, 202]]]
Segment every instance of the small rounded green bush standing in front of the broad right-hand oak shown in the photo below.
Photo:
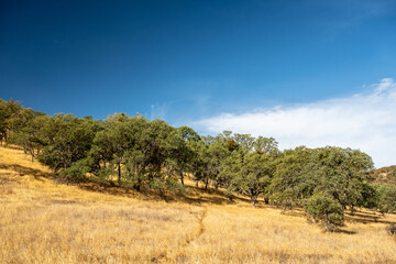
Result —
[[307, 199], [305, 209], [316, 222], [321, 223], [329, 231], [336, 231], [343, 226], [342, 206], [331, 197], [316, 194]]

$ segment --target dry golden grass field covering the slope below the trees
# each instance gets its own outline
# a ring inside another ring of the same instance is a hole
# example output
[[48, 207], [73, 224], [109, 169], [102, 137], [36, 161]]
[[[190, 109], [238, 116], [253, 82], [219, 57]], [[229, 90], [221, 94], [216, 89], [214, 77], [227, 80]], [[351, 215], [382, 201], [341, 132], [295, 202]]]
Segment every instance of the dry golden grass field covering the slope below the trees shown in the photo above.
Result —
[[0, 147], [0, 263], [396, 263], [385, 231], [396, 216], [359, 211], [329, 233], [300, 210], [254, 209], [193, 186], [167, 201], [66, 186]]

